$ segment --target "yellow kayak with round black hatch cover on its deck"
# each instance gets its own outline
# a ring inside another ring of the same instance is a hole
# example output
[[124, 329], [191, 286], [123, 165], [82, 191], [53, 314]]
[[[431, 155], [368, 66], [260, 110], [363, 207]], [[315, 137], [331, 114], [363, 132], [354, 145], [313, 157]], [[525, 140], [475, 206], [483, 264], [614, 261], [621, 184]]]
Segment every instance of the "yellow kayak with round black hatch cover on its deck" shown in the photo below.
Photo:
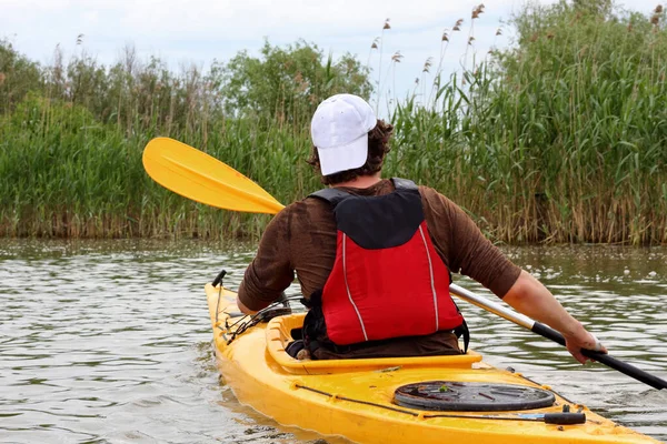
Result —
[[288, 426], [359, 443], [657, 443], [468, 351], [457, 356], [299, 361], [305, 314], [238, 313], [206, 285], [217, 364], [239, 402]]

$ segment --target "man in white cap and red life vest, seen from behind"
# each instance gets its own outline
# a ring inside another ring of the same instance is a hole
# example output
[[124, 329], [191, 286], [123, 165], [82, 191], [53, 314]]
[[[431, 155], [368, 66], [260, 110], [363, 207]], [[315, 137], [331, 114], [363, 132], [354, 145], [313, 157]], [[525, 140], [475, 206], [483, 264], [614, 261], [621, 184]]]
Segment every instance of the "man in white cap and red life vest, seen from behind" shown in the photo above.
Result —
[[320, 103], [309, 163], [329, 189], [269, 223], [240, 285], [239, 309], [251, 313], [277, 301], [296, 271], [313, 305], [305, 322], [312, 357], [455, 354], [465, 323], [447, 290], [449, 272], [460, 272], [559, 331], [580, 363], [581, 349], [606, 352], [454, 202], [410, 181], [381, 179], [392, 130], [356, 95]]

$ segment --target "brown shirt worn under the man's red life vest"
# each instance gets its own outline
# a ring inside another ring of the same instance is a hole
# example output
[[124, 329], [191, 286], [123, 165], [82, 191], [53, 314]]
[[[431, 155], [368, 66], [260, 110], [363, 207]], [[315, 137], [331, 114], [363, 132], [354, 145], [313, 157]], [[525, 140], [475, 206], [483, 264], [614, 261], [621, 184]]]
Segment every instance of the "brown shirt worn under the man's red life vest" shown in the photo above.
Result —
[[[390, 180], [367, 188], [341, 188], [357, 195], [394, 191]], [[465, 274], [502, 297], [519, 278], [520, 269], [481, 234], [475, 222], [434, 189], [419, 186], [434, 245], [452, 273]], [[295, 279], [305, 297], [322, 289], [336, 258], [336, 220], [329, 203], [305, 199], [280, 211], [267, 226], [257, 256], [239, 287], [250, 310], [275, 302]]]

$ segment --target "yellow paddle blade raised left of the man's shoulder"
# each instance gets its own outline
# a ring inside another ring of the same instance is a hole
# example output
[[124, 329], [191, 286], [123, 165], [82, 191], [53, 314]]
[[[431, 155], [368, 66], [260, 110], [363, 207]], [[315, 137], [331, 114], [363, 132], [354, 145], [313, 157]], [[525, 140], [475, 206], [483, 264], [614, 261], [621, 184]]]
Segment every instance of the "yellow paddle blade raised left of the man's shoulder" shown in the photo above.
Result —
[[276, 214], [283, 205], [261, 186], [192, 147], [156, 138], [143, 149], [143, 169], [185, 198], [225, 210]]

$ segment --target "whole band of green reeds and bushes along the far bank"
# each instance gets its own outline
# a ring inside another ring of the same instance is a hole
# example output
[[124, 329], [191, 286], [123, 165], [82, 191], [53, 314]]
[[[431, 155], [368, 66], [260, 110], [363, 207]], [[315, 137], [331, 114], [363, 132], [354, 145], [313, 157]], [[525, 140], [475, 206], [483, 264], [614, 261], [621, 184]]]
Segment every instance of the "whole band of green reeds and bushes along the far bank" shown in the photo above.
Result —
[[481, 14], [480, 4], [445, 30], [440, 60], [424, 65], [436, 80], [405, 99], [384, 89], [400, 52], [372, 79], [356, 57], [305, 41], [179, 72], [131, 47], [104, 67], [83, 36], [77, 54], [64, 61], [57, 48], [49, 65], [0, 41], [0, 236], [258, 238], [270, 216], [163, 190], [143, 171], [143, 147], [178, 139], [288, 203], [321, 188], [305, 162], [315, 108], [350, 92], [391, 102], [385, 176], [437, 189], [497, 242], [667, 243], [663, 8], [528, 6], [509, 22], [510, 48], [470, 54], [445, 78], [449, 41], [472, 44]]

